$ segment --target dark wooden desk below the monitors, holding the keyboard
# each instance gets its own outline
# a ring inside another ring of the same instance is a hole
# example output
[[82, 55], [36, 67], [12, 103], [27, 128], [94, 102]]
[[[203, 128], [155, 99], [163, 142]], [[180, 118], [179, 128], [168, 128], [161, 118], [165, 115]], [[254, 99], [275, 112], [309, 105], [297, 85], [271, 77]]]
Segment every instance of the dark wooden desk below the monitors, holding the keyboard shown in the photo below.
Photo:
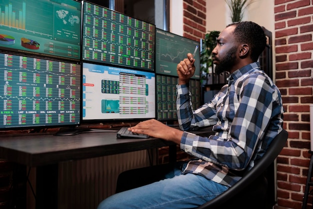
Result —
[[[194, 131], [194, 133], [207, 134], [207, 130]], [[0, 135], [1, 158], [36, 167], [37, 209], [57, 208], [58, 162], [163, 146], [169, 146], [169, 161], [175, 161], [176, 144], [172, 142], [156, 138], [117, 139], [116, 132], [82, 133], [74, 136]]]

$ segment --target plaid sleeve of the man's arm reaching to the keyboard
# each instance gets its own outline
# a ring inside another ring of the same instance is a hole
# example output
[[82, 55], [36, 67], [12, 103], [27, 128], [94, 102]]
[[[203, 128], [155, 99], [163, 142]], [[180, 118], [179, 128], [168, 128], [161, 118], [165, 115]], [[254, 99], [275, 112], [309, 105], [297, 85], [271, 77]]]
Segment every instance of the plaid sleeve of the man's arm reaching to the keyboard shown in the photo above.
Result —
[[[272, 103], [277, 98], [276, 90], [264, 76], [252, 74], [248, 77], [234, 89], [233, 97], [223, 100], [234, 107], [233, 113], [228, 113], [233, 116], [228, 115], [232, 121], [229, 128], [224, 130], [226, 134], [200, 137], [184, 132], [180, 143], [182, 150], [205, 161], [235, 170], [242, 170], [248, 165], [256, 144], [264, 137], [267, 126], [274, 117]], [[220, 114], [226, 113], [223, 111], [225, 106], [227, 105], [218, 104]], [[223, 116], [219, 117], [218, 123], [223, 127]], [[225, 135], [227, 137], [222, 137]]]

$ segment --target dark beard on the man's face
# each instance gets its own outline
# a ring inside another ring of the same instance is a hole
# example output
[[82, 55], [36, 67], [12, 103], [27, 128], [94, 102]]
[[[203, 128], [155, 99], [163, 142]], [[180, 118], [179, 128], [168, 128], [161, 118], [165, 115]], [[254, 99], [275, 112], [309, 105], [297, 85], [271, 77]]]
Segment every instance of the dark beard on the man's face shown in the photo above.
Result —
[[232, 47], [226, 53], [226, 56], [219, 60], [219, 64], [215, 65], [215, 74], [218, 75], [224, 71], [230, 71], [235, 64], [237, 47]]

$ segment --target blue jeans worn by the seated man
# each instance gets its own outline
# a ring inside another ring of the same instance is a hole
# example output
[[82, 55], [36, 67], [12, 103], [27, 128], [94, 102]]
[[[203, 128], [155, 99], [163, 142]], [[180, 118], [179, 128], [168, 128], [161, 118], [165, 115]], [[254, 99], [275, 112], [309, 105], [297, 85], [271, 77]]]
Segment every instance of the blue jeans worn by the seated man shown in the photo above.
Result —
[[201, 205], [228, 187], [200, 175], [180, 174], [175, 168], [166, 178], [104, 199], [97, 209], [192, 208]]

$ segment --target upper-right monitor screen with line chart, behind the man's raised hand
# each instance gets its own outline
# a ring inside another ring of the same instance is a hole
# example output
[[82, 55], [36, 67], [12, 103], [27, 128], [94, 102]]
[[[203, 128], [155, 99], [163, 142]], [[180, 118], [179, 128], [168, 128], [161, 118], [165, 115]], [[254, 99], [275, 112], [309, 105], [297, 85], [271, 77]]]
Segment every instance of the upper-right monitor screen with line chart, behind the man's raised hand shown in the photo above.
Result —
[[195, 73], [193, 79], [200, 79], [199, 42], [181, 37], [160, 29], [155, 29], [155, 73], [177, 76], [177, 64], [186, 58], [187, 53], [193, 54], [195, 47]]

